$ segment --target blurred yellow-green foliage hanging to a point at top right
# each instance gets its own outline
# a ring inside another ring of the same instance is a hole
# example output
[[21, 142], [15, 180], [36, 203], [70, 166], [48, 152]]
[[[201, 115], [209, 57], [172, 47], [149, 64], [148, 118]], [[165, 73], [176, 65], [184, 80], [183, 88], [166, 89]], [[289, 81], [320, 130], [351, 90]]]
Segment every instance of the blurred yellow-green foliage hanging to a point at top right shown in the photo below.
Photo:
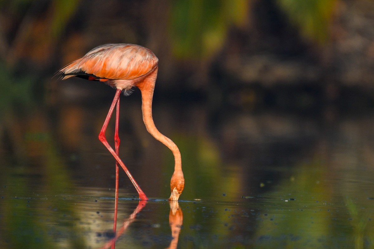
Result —
[[300, 34], [324, 43], [329, 37], [329, 24], [338, 0], [277, 0], [279, 6], [297, 26]]

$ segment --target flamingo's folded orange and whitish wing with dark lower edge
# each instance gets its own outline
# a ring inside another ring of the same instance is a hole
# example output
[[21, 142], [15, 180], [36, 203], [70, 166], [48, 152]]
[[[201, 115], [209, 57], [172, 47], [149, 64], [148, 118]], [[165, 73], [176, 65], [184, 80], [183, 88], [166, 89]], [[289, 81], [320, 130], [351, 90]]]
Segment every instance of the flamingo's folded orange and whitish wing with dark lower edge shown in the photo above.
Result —
[[[148, 48], [135, 44], [104, 44], [61, 70], [62, 79], [136, 79], [157, 66], [158, 59]], [[90, 78], [92, 77], [92, 78]]]

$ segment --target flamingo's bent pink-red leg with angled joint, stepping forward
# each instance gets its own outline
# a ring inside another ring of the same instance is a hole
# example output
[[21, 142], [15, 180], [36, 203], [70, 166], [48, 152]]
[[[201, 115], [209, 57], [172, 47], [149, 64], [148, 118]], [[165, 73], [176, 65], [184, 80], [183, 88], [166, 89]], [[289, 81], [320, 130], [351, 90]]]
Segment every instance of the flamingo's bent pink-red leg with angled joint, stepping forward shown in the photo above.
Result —
[[108, 115], [105, 118], [104, 124], [103, 124], [103, 126], [101, 128], [101, 131], [99, 133], [99, 140], [102, 142], [102, 144], [104, 144], [105, 147], [107, 147], [108, 151], [113, 155], [113, 157], [116, 158], [117, 163], [123, 168], [123, 170], [125, 170], [127, 176], [130, 178], [130, 180], [131, 180], [132, 184], [134, 185], [135, 189], [138, 191], [139, 199], [148, 200], [147, 196], [145, 195], [143, 190], [141, 190], [140, 186], [135, 181], [134, 177], [132, 177], [130, 171], [126, 168], [125, 164], [122, 162], [122, 160], [119, 158], [119, 156], [113, 150], [113, 148], [108, 144], [107, 138], [105, 138], [105, 131], [107, 130], [108, 123], [109, 123], [110, 117], [113, 114], [114, 107], [119, 101], [120, 94], [121, 94], [121, 90], [117, 89], [116, 95], [114, 95], [114, 98], [113, 98], [113, 102], [110, 105]]

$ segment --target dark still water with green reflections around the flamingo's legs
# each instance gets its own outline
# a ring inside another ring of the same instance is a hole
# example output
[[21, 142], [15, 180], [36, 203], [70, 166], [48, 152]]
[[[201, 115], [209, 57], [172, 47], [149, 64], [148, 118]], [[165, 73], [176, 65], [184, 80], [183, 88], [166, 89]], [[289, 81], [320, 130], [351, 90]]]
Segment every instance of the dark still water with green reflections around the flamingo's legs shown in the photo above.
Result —
[[122, 98], [120, 157], [151, 200], [121, 171], [114, 233], [115, 164], [97, 139], [110, 100], [61, 95], [3, 114], [0, 248], [374, 248], [371, 114], [155, 98], [186, 179], [171, 204], [172, 154], [145, 130], [138, 93]]

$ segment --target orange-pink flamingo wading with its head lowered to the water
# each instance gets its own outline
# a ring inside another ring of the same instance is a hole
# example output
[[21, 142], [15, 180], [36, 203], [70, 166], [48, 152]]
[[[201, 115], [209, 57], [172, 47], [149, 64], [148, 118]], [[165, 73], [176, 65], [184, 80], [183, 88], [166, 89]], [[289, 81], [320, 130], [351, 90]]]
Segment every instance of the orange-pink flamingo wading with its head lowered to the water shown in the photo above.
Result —
[[[120, 93], [123, 92], [124, 95], [129, 95], [134, 86], [141, 91], [142, 116], [147, 131], [155, 139], [166, 145], [174, 155], [174, 173], [170, 180], [171, 195], [169, 201], [178, 201], [184, 189], [181, 153], [171, 139], [157, 130], [152, 118], [152, 99], [157, 78], [158, 61], [158, 58], [151, 50], [140, 45], [104, 44], [93, 48], [85, 56], [63, 67], [57, 73], [62, 80], [75, 76], [90, 81], [101, 81], [116, 89], [113, 102], [99, 133], [99, 140], [116, 159], [116, 199], [118, 199], [119, 164], [138, 191], [139, 199], [148, 200], [118, 155], [120, 143], [118, 136]], [[116, 105], [116, 130], [114, 133], [116, 151], [114, 151], [105, 138], [105, 130]]]

